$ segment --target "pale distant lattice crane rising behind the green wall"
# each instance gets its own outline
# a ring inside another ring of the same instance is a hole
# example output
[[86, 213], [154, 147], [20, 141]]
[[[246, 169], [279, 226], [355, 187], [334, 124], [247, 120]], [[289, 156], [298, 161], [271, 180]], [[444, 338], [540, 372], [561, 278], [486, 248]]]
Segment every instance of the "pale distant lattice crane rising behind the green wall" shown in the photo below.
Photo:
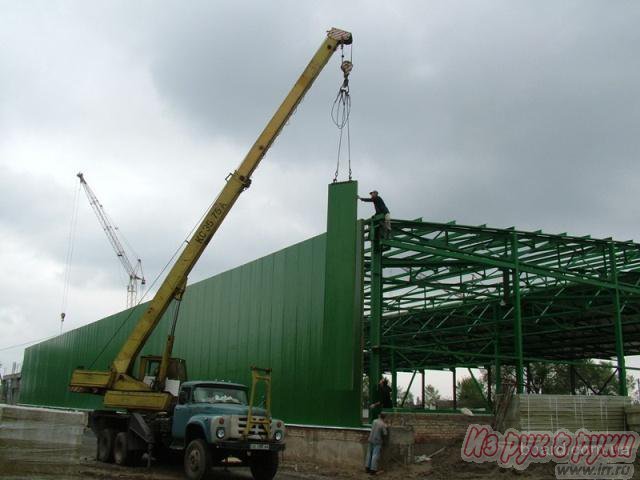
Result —
[[118, 238], [116, 233], [117, 228], [109, 219], [107, 212], [104, 211], [104, 207], [85, 180], [82, 172], [78, 173], [77, 177], [80, 179], [80, 184], [89, 199], [89, 204], [91, 205], [93, 212], [96, 214], [98, 222], [100, 223], [100, 226], [102, 226], [104, 233], [107, 235], [107, 239], [109, 240], [113, 251], [116, 252], [116, 256], [118, 257], [122, 268], [124, 268], [124, 271], [129, 276], [129, 283], [127, 284], [127, 308], [135, 307], [138, 302], [138, 283], [143, 286], [146, 283], [144, 274], [142, 273], [142, 261], [138, 258], [134, 267], [134, 264], [129, 260], [129, 257]]

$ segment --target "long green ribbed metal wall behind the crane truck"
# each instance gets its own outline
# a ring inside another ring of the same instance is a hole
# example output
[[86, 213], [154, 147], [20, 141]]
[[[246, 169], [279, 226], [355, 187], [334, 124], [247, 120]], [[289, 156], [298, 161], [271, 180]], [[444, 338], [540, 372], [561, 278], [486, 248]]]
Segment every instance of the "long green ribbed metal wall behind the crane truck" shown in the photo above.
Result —
[[[187, 361], [189, 378], [249, 384], [250, 365], [270, 366], [274, 415], [288, 423], [359, 425], [360, 348], [354, 352], [353, 342], [336, 344], [341, 361], [330, 363], [323, 349], [325, 301], [331, 300], [331, 295], [325, 296], [325, 269], [331, 264], [326, 247], [327, 235], [319, 235], [189, 285], [174, 346], [174, 356]], [[107, 370], [144, 308], [140, 305], [28, 348], [22, 402], [100, 408], [102, 397], [67, 390], [71, 372], [78, 366]], [[351, 308], [351, 318], [343, 315], [343, 321], [350, 322], [347, 330], [359, 330], [360, 312]], [[151, 335], [143, 355], [162, 352], [172, 311]], [[341, 381], [336, 390], [319, 381], [326, 375], [343, 379], [345, 370], [357, 372], [349, 385]]]

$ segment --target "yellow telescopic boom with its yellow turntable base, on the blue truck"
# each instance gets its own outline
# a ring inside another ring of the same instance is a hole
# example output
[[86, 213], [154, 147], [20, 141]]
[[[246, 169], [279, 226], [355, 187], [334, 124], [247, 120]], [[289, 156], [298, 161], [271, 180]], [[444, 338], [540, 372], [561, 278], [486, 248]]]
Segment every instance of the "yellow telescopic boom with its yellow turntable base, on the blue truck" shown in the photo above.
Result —
[[164, 411], [170, 407], [172, 395], [162, 390], [171, 360], [175, 319], [172, 331], [167, 338], [154, 388], [133, 377], [133, 363], [171, 301], [182, 298], [187, 275], [195, 266], [240, 194], [251, 185], [251, 175], [305, 93], [327, 64], [333, 52], [339, 46], [349, 45], [351, 42], [352, 36], [349, 32], [336, 28], [327, 32], [327, 37], [322, 42], [322, 45], [320, 45], [300, 78], [298, 78], [298, 81], [258, 136], [238, 169], [226, 177], [226, 184], [222, 191], [173, 265], [155, 297], [138, 320], [131, 335], [111, 364], [110, 370], [108, 372], [75, 370], [70, 382], [72, 391], [104, 395], [105, 407], [151, 411]]

